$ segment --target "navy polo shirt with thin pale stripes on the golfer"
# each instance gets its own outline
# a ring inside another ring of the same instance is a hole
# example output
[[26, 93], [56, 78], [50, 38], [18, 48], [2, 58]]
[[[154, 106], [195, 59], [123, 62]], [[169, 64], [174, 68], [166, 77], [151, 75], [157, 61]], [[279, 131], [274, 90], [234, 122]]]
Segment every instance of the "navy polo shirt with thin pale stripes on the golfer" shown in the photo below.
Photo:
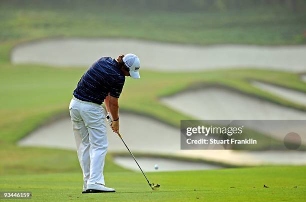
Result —
[[73, 95], [77, 99], [100, 105], [108, 93], [118, 98], [124, 81], [118, 62], [110, 57], [101, 57], [80, 78]]

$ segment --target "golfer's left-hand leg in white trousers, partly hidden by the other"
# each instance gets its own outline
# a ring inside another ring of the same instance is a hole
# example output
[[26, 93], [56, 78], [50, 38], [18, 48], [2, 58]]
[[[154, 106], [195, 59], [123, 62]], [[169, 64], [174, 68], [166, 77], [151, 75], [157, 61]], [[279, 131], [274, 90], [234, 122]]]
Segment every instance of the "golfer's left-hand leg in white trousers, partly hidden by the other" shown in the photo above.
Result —
[[[75, 101], [72, 101], [75, 102]], [[79, 114], [79, 103], [70, 104], [69, 111], [73, 126], [74, 139], [76, 144], [77, 157], [83, 172], [83, 191], [86, 191], [89, 179], [90, 158], [89, 158], [89, 134]]]

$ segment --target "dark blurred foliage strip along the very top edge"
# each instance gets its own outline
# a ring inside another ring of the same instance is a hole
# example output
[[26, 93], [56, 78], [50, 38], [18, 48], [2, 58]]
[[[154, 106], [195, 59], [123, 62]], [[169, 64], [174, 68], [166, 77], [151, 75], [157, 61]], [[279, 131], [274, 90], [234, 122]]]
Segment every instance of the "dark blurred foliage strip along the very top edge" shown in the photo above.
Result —
[[305, 11], [305, 0], [1, 0], [13, 6], [45, 6], [58, 8], [86, 7], [101, 4], [107, 8], [147, 9], [164, 11], [226, 11], [244, 8], [277, 6], [291, 11]]

